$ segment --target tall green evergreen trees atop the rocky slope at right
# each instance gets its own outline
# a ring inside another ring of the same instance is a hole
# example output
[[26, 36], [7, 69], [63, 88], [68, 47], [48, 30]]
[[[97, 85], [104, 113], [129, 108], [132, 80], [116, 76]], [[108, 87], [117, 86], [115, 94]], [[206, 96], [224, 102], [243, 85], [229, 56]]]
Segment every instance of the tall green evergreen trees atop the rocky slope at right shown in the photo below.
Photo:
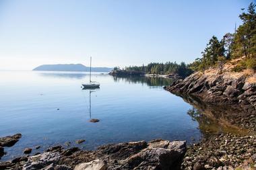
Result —
[[201, 58], [195, 59], [190, 68], [193, 71], [205, 71], [210, 67], [218, 67], [222, 73], [224, 63], [230, 58], [246, 56], [244, 62], [239, 62], [233, 71], [243, 69], [255, 69], [256, 58], [256, 13], [255, 3], [250, 3], [247, 13], [239, 15], [243, 24], [238, 27], [234, 34], [227, 33], [222, 40], [212, 36]]

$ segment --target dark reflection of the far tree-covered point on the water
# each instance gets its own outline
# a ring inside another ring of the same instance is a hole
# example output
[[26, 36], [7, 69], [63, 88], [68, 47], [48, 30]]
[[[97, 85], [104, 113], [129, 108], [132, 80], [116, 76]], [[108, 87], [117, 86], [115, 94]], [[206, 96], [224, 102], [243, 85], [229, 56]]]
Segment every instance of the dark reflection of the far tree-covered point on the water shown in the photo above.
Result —
[[141, 83], [142, 85], [146, 84], [150, 87], [162, 87], [165, 85], [170, 85], [173, 79], [168, 79], [164, 77], [141, 77], [141, 76], [127, 76], [127, 77], [117, 77], [113, 76], [115, 82], [125, 81], [128, 83]]

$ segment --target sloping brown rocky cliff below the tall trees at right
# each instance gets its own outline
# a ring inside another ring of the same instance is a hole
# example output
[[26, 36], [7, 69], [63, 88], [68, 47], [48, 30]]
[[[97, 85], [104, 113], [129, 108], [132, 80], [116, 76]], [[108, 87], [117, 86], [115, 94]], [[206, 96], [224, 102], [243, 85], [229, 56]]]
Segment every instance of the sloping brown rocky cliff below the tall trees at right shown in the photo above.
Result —
[[256, 114], [256, 73], [249, 70], [234, 73], [230, 65], [221, 74], [218, 69], [194, 73], [175, 81], [166, 90], [177, 95], [194, 95], [205, 103], [241, 104], [247, 112]]

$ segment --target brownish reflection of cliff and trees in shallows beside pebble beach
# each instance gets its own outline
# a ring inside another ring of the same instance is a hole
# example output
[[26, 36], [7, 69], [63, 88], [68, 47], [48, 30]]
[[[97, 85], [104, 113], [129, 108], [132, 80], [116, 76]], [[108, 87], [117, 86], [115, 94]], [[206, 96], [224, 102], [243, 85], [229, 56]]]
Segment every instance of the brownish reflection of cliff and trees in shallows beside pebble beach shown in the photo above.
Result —
[[199, 98], [191, 95], [182, 95], [184, 101], [193, 105], [187, 111], [192, 120], [199, 123], [199, 129], [203, 134], [230, 132], [233, 134], [245, 134], [247, 130], [242, 129], [236, 124], [236, 121], [241, 113], [242, 108], [228, 107], [220, 105], [212, 105], [204, 103]]

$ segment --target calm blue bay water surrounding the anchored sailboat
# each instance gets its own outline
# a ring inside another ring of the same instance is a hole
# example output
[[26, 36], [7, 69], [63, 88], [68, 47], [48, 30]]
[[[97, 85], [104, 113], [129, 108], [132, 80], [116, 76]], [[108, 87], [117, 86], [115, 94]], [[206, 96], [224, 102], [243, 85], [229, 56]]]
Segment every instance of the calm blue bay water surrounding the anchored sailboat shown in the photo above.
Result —
[[[164, 91], [171, 80], [145, 77], [114, 78], [92, 75], [100, 89], [82, 90], [87, 73], [0, 71], [0, 136], [21, 133], [22, 138], [1, 161], [22, 155], [25, 147], [48, 146], [85, 139], [78, 146], [131, 140], [198, 140], [198, 123], [187, 114], [192, 106]], [[33, 153], [38, 152], [36, 149]]]

